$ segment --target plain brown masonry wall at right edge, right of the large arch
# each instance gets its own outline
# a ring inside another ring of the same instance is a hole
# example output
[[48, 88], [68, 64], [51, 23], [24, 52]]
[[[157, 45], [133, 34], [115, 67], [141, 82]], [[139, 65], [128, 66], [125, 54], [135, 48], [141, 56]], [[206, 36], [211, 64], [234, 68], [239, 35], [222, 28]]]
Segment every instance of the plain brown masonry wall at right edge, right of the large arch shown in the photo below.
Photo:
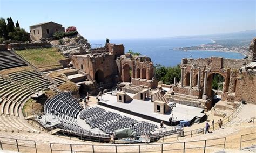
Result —
[[235, 87], [235, 101], [245, 100], [247, 103], [256, 104], [256, 71], [254, 76], [247, 72], [239, 74]]

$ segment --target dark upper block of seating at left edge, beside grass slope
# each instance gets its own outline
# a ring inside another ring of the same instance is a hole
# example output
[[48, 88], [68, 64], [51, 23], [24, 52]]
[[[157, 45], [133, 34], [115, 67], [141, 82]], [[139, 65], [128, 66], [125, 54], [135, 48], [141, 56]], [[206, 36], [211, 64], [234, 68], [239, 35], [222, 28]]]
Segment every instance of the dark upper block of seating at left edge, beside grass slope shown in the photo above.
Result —
[[0, 51], [0, 70], [27, 65], [12, 51]]

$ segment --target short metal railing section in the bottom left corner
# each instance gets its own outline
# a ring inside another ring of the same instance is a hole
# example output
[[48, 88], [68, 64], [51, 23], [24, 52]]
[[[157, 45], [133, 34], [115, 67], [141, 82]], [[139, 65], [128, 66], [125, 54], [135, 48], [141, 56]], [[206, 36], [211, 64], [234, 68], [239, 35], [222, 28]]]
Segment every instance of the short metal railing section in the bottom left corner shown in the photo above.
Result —
[[0, 147], [2, 150], [26, 152], [29, 149], [30, 151], [37, 152], [36, 141], [34, 140], [0, 137]]

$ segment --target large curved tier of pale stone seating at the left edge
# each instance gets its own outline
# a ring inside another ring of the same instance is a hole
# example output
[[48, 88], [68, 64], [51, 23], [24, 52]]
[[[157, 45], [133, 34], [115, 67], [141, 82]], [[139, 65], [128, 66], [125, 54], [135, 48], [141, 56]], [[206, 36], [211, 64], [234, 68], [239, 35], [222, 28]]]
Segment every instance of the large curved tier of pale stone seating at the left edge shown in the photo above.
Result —
[[4, 70], [6, 76], [0, 75], [1, 95], [1, 131], [39, 132], [30, 127], [21, 119], [21, 106], [30, 99], [36, 91], [48, 89], [52, 82], [36, 70], [25, 67], [24, 69]]

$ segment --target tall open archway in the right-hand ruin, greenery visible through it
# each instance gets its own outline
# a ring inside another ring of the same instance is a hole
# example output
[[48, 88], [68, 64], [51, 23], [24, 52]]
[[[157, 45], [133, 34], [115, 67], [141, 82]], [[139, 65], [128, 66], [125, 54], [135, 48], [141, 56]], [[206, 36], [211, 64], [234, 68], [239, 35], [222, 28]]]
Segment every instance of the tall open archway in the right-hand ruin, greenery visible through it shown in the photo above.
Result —
[[212, 107], [221, 100], [225, 79], [221, 73], [211, 73], [207, 79], [207, 96], [212, 99]]

